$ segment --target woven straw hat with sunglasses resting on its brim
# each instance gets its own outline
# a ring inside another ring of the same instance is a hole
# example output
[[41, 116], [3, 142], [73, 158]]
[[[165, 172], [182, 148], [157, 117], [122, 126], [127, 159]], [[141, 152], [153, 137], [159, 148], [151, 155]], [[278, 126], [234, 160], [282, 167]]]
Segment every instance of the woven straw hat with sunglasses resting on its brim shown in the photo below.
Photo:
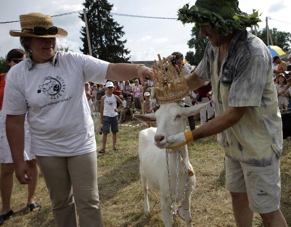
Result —
[[25, 37], [39, 37], [39, 38], [52, 38], [52, 37], [65, 37], [68, 32], [62, 28], [58, 28], [57, 34], [44, 34], [44, 35], [35, 35], [33, 31], [25, 31], [24, 29], [33, 29], [34, 27], [43, 27], [49, 29], [50, 27], [55, 26], [51, 19], [51, 16], [44, 15], [40, 13], [30, 13], [25, 15], [20, 15], [20, 26], [21, 31], [19, 30], [10, 30], [11, 36], [25, 36]]

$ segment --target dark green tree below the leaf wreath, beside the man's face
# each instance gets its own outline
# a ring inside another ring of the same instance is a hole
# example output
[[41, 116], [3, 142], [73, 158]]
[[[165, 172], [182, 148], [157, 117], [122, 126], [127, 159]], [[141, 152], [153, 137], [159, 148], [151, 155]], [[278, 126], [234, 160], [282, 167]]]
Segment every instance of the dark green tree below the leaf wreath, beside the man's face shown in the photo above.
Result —
[[197, 26], [194, 26], [191, 32], [192, 38], [187, 44], [190, 49], [195, 49], [195, 53], [193, 54], [192, 51], [187, 52], [186, 56], [188, 56], [189, 59], [186, 59], [191, 62], [191, 65], [198, 65], [203, 58], [208, 39], [205, 36], [200, 36], [200, 30]]

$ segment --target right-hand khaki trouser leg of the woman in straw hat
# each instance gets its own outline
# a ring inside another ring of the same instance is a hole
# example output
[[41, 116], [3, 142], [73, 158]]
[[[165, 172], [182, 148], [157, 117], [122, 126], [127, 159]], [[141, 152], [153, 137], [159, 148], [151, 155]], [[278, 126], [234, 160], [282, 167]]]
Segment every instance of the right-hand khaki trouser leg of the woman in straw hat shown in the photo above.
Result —
[[77, 203], [80, 227], [102, 227], [96, 152], [68, 157], [68, 171]]

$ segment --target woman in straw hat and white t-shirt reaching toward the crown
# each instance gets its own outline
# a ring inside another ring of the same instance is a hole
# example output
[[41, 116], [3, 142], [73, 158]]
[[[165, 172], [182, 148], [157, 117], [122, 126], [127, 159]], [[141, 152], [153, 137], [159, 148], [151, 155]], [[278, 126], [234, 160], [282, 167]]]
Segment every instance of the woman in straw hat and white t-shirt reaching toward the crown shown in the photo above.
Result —
[[23, 161], [23, 122], [28, 112], [31, 151], [47, 183], [56, 226], [77, 227], [75, 200], [80, 226], [102, 226], [94, 125], [83, 84], [135, 77], [144, 81], [151, 70], [56, 51], [56, 37], [67, 32], [50, 16], [20, 15], [20, 25], [21, 31], [10, 34], [20, 37], [29, 57], [9, 71], [3, 101], [16, 177], [23, 184], [31, 180]]

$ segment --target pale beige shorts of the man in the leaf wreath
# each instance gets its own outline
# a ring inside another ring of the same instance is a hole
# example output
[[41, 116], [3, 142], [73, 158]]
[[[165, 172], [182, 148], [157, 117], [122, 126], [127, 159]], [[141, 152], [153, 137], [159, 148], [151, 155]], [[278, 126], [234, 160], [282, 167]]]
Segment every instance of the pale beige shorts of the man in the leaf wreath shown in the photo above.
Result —
[[272, 151], [272, 165], [253, 166], [225, 156], [226, 189], [247, 193], [249, 208], [256, 213], [279, 209], [281, 197], [280, 159]]

